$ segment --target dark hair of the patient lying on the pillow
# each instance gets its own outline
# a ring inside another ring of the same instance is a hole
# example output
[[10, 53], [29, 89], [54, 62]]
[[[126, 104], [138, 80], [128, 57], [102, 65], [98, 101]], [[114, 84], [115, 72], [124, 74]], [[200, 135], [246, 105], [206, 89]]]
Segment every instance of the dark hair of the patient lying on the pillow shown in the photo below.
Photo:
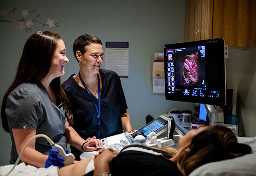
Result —
[[204, 130], [192, 138], [190, 148], [182, 150], [178, 158], [178, 168], [183, 175], [189, 175], [193, 170], [209, 162], [226, 160], [248, 154], [250, 146], [240, 144], [234, 133], [224, 126], [214, 126]]

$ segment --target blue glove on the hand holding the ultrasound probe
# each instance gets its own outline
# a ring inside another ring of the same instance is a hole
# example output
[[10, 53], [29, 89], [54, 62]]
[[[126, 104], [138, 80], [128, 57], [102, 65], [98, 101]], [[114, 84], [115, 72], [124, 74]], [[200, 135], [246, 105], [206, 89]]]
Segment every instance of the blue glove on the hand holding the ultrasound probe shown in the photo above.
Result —
[[[68, 154], [68, 150], [65, 150], [66, 154]], [[63, 167], [64, 166], [64, 158], [61, 156], [58, 156], [59, 151], [55, 149], [50, 149], [49, 150], [49, 156], [44, 164], [45, 168], [50, 167], [51, 165], [58, 166], [58, 167]]]

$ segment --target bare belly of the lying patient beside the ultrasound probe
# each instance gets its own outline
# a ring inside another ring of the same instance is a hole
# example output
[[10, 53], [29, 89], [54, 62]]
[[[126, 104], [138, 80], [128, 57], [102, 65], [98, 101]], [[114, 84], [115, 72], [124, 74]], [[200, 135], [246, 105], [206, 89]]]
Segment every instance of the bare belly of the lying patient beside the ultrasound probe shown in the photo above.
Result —
[[86, 158], [74, 164], [64, 166], [58, 170], [58, 176], [83, 176], [91, 160], [91, 158]]

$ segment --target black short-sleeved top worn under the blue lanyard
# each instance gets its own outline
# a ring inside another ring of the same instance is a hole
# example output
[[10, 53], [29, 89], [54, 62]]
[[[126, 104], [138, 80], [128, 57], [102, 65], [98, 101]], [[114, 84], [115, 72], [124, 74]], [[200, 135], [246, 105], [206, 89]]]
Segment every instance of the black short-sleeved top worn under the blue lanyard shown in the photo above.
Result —
[[[116, 72], [100, 69], [102, 76], [101, 107], [100, 107], [100, 138], [106, 138], [123, 132], [121, 114], [126, 112], [127, 104], [121, 81]], [[86, 89], [79, 86], [72, 74], [62, 87], [70, 102], [74, 116], [73, 128], [85, 140], [97, 136], [97, 110]], [[98, 99], [92, 95], [98, 107]], [[80, 151], [71, 147], [76, 159]], [[78, 154], [76, 154], [78, 153]]]

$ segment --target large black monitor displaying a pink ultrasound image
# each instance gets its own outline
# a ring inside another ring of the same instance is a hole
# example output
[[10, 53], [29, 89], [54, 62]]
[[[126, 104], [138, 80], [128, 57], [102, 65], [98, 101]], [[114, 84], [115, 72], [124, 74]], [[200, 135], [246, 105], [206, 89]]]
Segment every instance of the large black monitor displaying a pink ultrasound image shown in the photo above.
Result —
[[167, 100], [226, 104], [224, 39], [164, 45]]

